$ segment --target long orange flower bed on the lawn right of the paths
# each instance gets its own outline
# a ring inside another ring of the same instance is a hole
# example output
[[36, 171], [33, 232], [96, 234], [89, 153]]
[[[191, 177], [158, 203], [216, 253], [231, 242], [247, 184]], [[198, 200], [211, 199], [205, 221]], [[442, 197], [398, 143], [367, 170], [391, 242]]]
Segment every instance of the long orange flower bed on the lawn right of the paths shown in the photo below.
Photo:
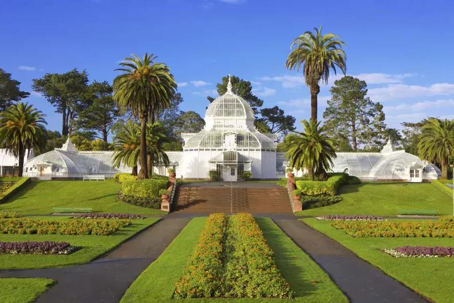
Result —
[[333, 221], [353, 237], [454, 237], [454, 222]]

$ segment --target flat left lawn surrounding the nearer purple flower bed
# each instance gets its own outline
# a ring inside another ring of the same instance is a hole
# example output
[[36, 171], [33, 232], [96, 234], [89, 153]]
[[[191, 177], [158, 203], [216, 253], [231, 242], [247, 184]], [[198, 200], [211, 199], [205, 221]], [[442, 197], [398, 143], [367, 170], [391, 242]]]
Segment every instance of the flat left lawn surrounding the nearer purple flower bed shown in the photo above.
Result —
[[[39, 217], [39, 219], [58, 219], [60, 217]], [[71, 219], [69, 219], [71, 220]], [[89, 219], [87, 219], [89, 220]], [[129, 237], [142, 229], [157, 222], [159, 218], [147, 218], [144, 220], [131, 220], [132, 225], [124, 227], [109, 236], [92, 235], [17, 235], [0, 234], [0, 241], [64, 241], [71, 245], [81, 247], [70, 255], [9, 255], [0, 254], [0, 270], [2, 269], [26, 269], [26, 268], [49, 268], [83, 264], [90, 262], [98, 256], [119, 245]]]

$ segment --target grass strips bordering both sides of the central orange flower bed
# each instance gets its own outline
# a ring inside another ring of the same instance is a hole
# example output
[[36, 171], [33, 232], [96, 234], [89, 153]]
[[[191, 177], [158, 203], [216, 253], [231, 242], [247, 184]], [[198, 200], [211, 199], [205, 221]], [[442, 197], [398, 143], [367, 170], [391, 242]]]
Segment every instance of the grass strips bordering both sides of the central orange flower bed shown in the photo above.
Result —
[[[328, 275], [309, 258], [272, 221], [257, 218], [275, 261], [284, 278], [295, 290], [295, 299], [275, 298], [197, 298], [178, 299], [192, 302], [348, 302]], [[153, 262], [123, 296], [123, 303], [173, 302], [175, 283], [180, 279], [189, 257], [204, 228], [206, 218], [195, 218], [183, 229], [162, 255]]]

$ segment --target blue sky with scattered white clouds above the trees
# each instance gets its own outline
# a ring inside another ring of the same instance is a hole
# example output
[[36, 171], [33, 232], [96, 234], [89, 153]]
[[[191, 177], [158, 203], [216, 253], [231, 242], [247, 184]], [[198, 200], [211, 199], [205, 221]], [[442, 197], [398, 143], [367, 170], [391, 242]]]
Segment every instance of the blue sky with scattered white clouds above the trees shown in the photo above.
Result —
[[[31, 91], [33, 78], [86, 69], [110, 83], [131, 53], [171, 68], [182, 110], [204, 115], [206, 95], [228, 73], [253, 83], [264, 107], [297, 121], [310, 116], [301, 73], [284, 68], [292, 40], [323, 25], [347, 43], [347, 73], [366, 80], [386, 123], [427, 116], [454, 119], [454, 3], [449, 1], [19, 1], [0, 0], [0, 68]], [[5, 26], [6, 25], [6, 26]], [[319, 94], [319, 117], [332, 77]], [[28, 101], [61, 130], [61, 116], [39, 95]], [[300, 125], [298, 123], [298, 125]], [[299, 127], [300, 128], [300, 127]]]

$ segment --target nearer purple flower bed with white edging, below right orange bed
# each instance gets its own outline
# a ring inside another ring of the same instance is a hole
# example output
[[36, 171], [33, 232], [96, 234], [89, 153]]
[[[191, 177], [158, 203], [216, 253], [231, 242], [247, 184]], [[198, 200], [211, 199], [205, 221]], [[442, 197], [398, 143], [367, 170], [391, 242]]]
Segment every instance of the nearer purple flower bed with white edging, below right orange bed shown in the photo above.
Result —
[[395, 258], [454, 257], [454, 247], [401, 246], [382, 250]]

